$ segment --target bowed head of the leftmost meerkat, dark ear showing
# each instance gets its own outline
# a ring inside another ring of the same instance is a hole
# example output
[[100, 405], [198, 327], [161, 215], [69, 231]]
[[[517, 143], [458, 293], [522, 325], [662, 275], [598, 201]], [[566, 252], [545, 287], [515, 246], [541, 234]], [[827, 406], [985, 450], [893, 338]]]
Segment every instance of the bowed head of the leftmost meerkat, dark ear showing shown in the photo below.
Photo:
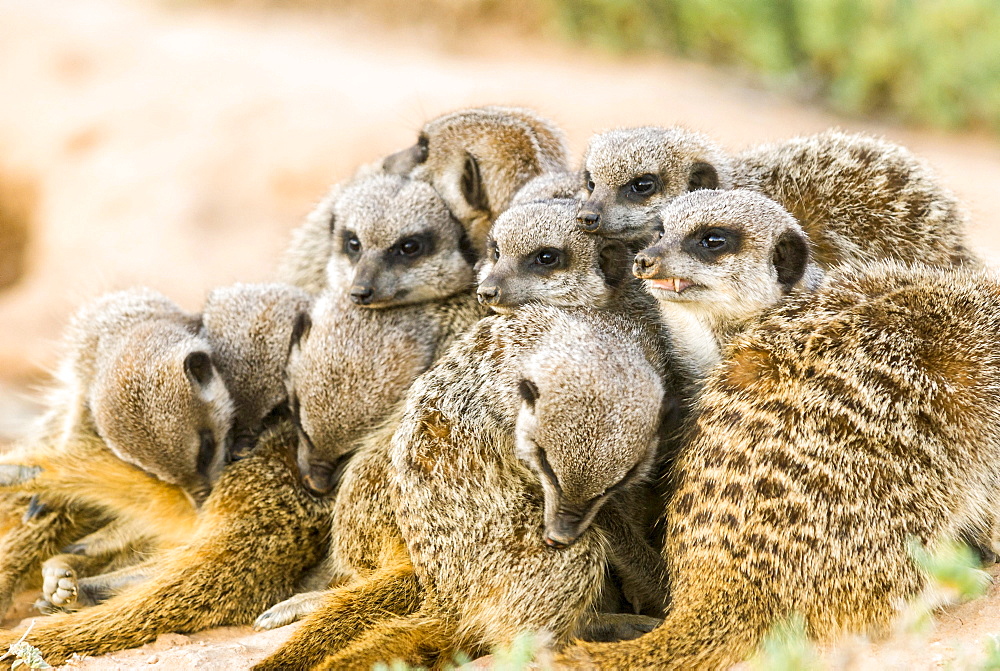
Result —
[[196, 503], [228, 461], [229, 392], [208, 343], [174, 322], [140, 324], [109, 352], [88, 405], [123, 461], [180, 485]]

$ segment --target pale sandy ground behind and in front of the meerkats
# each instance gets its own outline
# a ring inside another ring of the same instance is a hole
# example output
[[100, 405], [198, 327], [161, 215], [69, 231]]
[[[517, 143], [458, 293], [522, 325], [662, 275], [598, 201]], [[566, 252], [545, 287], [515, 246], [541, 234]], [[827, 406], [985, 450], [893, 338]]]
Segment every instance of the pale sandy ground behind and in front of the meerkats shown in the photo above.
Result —
[[[0, 293], [0, 442], [37, 413], [24, 390], [52, 365], [81, 300], [147, 284], [197, 310], [213, 286], [267, 279], [330, 183], [463, 105], [534, 107], [576, 156], [592, 132], [619, 125], [682, 123], [734, 149], [833, 125], [884, 134], [938, 169], [973, 213], [972, 245], [1000, 258], [990, 137], [838, 118], [700, 65], [495, 29], [445, 46], [428, 30], [357, 18], [196, 5], [0, 0], [0, 166], [39, 193], [30, 274]], [[998, 611], [993, 590], [948, 611], [930, 640], [862, 658], [939, 668], [980, 650]], [[285, 635], [172, 636], [79, 666], [238, 668]]]

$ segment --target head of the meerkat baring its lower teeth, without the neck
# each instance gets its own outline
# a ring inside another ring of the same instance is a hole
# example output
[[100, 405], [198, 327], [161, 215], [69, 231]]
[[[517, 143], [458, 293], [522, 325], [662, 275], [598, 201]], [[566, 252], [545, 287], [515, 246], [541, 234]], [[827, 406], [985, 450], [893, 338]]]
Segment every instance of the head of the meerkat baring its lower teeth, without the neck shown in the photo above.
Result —
[[699, 191], [659, 213], [660, 239], [634, 273], [661, 303], [713, 321], [746, 319], [773, 306], [806, 276], [809, 243], [794, 218], [744, 190]]

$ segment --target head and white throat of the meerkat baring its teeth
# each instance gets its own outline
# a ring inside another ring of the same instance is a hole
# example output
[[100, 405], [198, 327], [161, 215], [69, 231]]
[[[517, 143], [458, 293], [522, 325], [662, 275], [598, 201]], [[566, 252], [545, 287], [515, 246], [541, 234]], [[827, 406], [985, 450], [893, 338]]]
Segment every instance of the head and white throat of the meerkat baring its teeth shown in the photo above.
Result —
[[695, 379], [753, 320], [822, 280], [802, 228], [758, 193], [695, 191], [658, 217], [661, 237], [636, 255], [634, 273], [659, 303], [678, 363]]

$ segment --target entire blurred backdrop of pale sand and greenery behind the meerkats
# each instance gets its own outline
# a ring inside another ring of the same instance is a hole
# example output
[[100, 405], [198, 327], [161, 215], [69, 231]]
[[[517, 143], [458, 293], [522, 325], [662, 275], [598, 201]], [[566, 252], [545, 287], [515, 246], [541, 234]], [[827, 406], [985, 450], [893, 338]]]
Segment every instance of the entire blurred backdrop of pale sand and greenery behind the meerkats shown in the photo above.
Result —
[[331, 183], [465, 105], [574, 160], [622, 125], [885, 135], [1000, 254], [996, 0], [0, 0], [0, 92], [0, 441], [81, 301], [271, 277]]

